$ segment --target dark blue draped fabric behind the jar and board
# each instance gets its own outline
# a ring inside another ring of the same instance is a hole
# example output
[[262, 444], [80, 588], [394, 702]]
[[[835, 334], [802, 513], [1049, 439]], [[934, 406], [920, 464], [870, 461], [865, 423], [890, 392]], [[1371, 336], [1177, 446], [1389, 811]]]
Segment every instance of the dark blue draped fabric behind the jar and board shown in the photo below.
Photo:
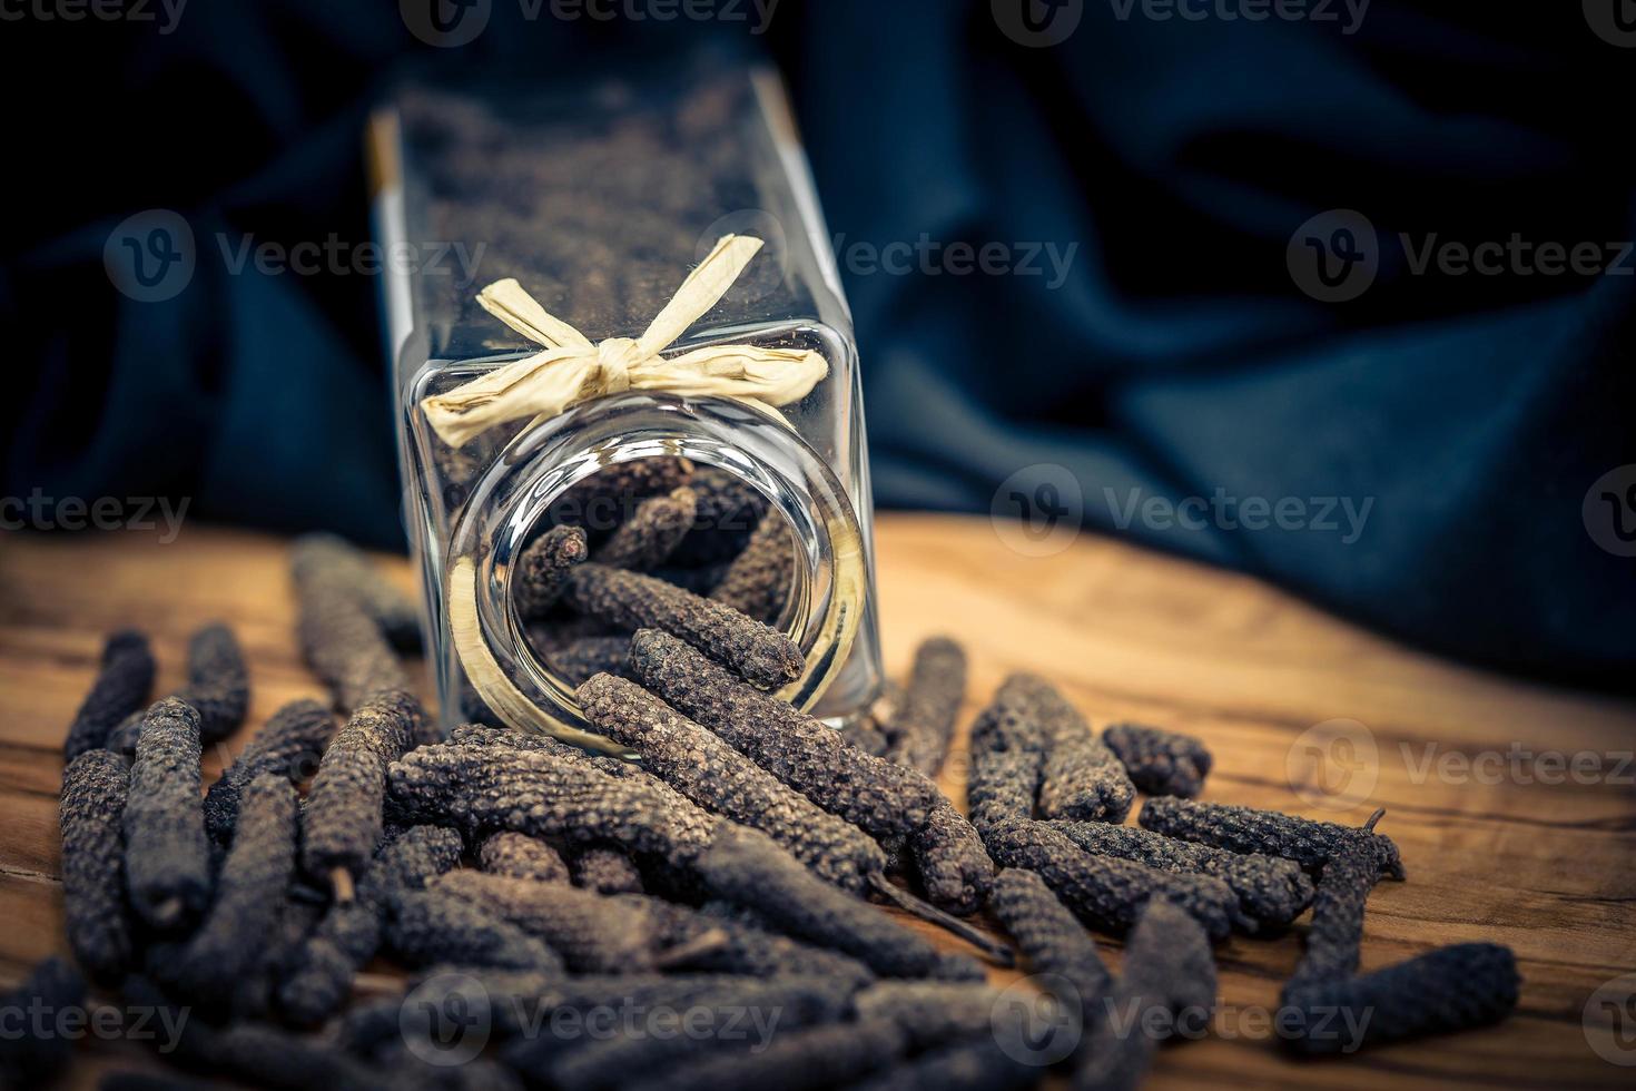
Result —
[[[1057, 286], [847, 273], [879, 505], [1014, 514], [1013, 489], [1068, 479], [1060, 517], [1445, 653], [1629, 687], [1636, 469], [1587, 491], [1636, 463], [1636, 257], [1417, 273], [1399, 236], [1636, 239], [1636, 47], [1592, 29], [1636, 5], [1374, 0], [1346, 33], [1338, 3], [1256, 23], [1217, 0], [1204, 20], [1016, 3], [1080, 23], [1027, 47], [988, 0], [782, 0], [766, 34], [748, 7], [568, 23], [492, 0], [486, 33], [438, 51], [381, 2], [191, 0], [169, 34], [157, 0], [151, 21], [5, 5], [0, 496], [187, 496], [193, 519], [401, 548], [376, 278], [229, 275], [203, 240], [366, 240], [362, 121], [406, 61], [545, 79], [713, 36], [784, 69], [831, 232], [1076, 244]], [[151, 208], [201, 239], [165, 303], [116, 293], [101, 260]], [[1378, 276], [1345, 303], [1286, 262], [1327, 209], [1378, 232]], [[1217, 489], [1371, 507], [1351, 541], [1338, 514], [1117, 525], [1132, 496]]]

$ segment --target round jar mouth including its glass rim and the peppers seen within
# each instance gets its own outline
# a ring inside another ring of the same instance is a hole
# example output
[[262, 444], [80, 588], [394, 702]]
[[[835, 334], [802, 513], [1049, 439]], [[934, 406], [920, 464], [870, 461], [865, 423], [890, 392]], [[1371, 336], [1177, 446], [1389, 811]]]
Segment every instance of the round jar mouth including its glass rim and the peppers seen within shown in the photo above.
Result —
[[470, 615], [453, 682], [509, 726], [578, 734], [576, 685], [622, 667], [630, 631], [563, 594], [584, 559], [733, 595], [800, 648], [807, 669], [780, 695], [802, 708], [838, 677], [869, 605], [846, 492], [780, 422], [725, 399], [587, 402], [525, 429], [452, 537], [450, 595], [473, 599], [450, 600], [452, 618]]

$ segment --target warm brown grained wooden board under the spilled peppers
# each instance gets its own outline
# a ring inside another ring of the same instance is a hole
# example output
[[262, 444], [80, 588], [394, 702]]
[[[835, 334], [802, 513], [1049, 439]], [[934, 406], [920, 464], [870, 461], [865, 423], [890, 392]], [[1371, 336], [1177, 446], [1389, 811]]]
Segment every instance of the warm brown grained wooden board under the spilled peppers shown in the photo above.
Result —
[[[108, 630], [147, 630], [169, 690], [182, 680], [188, 633], [231, 623], [252, 664], [252, 725], [296, 697], [322, 697], [294, 644], [285, 545], [191, 525], [169, 545], [137, 533], [0, 538], [0, 978], [64, 950], [59, 746]], [[877, 546], [895, 676], [918, 640], [951, 633], [972, 653], [965, 720], [1005, 674], [1034, 671], [1098, 725], [1144, 720], [1206, 739], [1216, 752], [1206, 798], [1346, 823], [1386, 806], [1381, 829], [1402, 847], [1409, 882], [1371, 898], [1364, 968], [1474, 939], [1508, 944], [1520, 959], [1520, 1011], [1500, 1027], [1299, 1063], [1261, 1017], [1296, 963], [1299, 927], [1234, 937], [1217, 952], [1211, 1035], [1166, 1048], [1152, 1086], [1631, 1086], [1636, 1068], [1592, 1048], [1585, 1008], [1598, 986], [1636, 970], [1636, 707], [1451, 666], [1253, 579], [1093, 537], [1024, 558], [987, 520], [885, 515]], [[383, 563], [411, 586], [406, 563]], [[1325, 751], [1356, 765], [1351, 783], [1328, 782], [1340, 795], [1314, 787], [1304, 746], [1330, 721], [1361, 725], [1361, 734], [1338, 730], [1378, 756]], [[208, 774], [242, 736], [206, 756]], [[1600, 770], [1582, 757], [1577, 775], [1557, 777], [1554, 765], [1536, 767], [1543, 752], [1597, 756]], [[1477, 761], [1463, 767], [1466, 759]], [[1371, 774], [1366, 800], [1337, 806]], [[1546, 782], [1554, 779], [1562, 782]], [[957, 801], [962, 782], [957, 752], [944, 774]], [[1117, 942], [1108, 949], [1117, 963]], [[1636, 1008], [1615, 999], [1623, 1016], [1616, 1004], [1592, 1006], [1592, 1037], [1636, 1063], [1636, 1042], [1620, 1053], [1610, 1030]], [[115, 1062], [146, 1063], [126, 1045], [87, 1055], [72, 1086], [92, 1086]]]

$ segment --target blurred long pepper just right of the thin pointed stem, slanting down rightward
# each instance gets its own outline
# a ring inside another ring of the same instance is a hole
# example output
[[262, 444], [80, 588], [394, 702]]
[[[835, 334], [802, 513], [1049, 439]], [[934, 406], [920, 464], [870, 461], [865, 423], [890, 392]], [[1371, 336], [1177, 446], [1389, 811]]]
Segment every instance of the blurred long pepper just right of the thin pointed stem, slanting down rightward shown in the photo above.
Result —
[[1091, 1026], [1112, 986], [1112, 973], [1103, 962], [1096, 937], [1045, 880], [1019, 869], [1000, 872], [988, 911], [1016, 941], [1029, 970], [1044, 975], [1042, 986], [1060, 1003], [1078, 1004], [1080, 1026]]

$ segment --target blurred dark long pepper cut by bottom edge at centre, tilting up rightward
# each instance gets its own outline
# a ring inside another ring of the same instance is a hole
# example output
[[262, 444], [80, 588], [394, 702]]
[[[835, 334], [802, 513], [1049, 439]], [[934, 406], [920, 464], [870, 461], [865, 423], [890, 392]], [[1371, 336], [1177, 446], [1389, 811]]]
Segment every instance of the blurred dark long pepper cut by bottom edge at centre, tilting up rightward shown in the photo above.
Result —
[[903, 1032], [890, 1022], [833, 1022], [779, 1034], [762, 1050], [707, 1053], [627, 1086], [641, 1091], [834, 1088], [885, 1068], [905, 1048]]

